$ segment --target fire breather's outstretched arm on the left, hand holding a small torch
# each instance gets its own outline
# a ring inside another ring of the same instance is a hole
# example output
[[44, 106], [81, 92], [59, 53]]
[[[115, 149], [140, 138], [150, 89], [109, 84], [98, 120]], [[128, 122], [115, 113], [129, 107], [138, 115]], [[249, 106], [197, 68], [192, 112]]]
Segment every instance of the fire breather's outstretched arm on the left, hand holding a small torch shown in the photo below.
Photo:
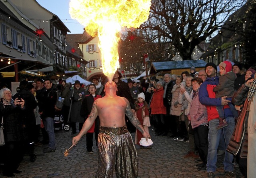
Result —
[[96, 108], [96, 104], [98, 102], [98, 99], [94, 101], [92, 105], [92, 110], [86, 121], [84, 122], [82, 130], [79, 132], [77, 136], [75, 136], [72, 140], [72, 144], [76, 145], [78, 141], [81, 139], [81, 137], [86, 134], [86, 132], [92, 127], [92, 124], [94, 123], [95, 119], [98, 116], [98, 111]]

